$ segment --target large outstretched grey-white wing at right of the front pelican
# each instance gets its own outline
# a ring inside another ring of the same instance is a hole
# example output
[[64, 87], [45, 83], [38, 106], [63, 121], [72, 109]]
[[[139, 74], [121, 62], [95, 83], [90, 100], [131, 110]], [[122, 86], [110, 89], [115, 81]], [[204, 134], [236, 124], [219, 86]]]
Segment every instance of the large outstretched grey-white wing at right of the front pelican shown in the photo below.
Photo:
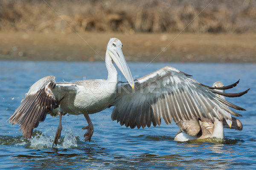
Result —
[[[227, 106], [237, 110], [245, 110], [239, 106], [215, 95], [235, 97], [239, 94], [226, 94], [208, 88], [194, 79], [172, 67], [165, 67], [145, 77], [135, 80], [135, 88], [128, 83], [119, 83], [111, 119], [126, 127], [148, 127], [161, 124], [161, 117], [166, 124], [180, 120], [207, 118], [212, 122], [214, 117], [231, 119], [224, 111], [234, 115], [240, 114], [230, 110]], [[230, 86], [232, 88], [232, 86]], [[221, 88], [222, 89], [222, 88]], [[223, 87], [227, 89], [227, 87]]]

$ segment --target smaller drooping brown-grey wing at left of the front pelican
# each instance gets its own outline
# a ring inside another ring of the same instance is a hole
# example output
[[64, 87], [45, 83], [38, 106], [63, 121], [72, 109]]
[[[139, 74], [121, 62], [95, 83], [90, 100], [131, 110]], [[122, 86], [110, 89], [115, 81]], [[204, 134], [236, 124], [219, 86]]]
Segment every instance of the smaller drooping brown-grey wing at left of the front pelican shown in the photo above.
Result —
[[20, 125], [25, 139], [31, 138], [33, 129], [38, 127], [39, 122], [44, 121], [47, 112], [58, 107], [51, 91], [55, 86], [54, 76], [44, 77], [35, 82], [15, 113], [8, 119], [9, 123]]

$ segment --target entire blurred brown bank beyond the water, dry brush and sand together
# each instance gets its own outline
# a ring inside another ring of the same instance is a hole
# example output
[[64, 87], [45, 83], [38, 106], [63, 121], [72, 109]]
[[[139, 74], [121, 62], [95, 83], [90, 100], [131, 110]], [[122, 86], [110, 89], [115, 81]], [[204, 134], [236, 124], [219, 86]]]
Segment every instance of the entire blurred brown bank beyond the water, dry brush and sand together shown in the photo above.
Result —
[[256, 0], [0, 0], [0, 59], [256, 62], [255, 33]]

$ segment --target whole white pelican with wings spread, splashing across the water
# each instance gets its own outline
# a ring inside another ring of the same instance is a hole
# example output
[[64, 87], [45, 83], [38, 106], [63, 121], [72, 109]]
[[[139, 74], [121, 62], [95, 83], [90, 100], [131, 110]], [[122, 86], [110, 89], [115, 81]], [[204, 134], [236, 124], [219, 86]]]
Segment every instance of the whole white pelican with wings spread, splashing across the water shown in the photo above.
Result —
[[[84, 114], [88, 126], [84, 134], [85, 141], [93, 135], [93, 124], [88, 114], [97, 113], [114, 106], [111, 119], [126, 127], [150, 127], [161, 124], [161, 118], [169, 124], [172, 119], [192, 120], [206, 118], [222, 120], [240, 114], [227, 106], [244, 111], [244, 108], [215, 95], [235, 97], [238, 94], [226, 94], [214, 89], [228, 89], [234, 85], [212, 88], [203, 85], [172, 67], [164, 67], [145, 77], [133, 80], [130, 69], [122, 53], [122, 43], [116, 38], [108, 42], [106, 56], [108, 79], [83, 80], [79, 82], [55, 82], [54, 76], [44, 77], [35, 82], [22, 100], [15, 113], [9, 118], [12, 124], [20, 125], [25, 138], [30, 139], [34, 128], [44, 121], [47, 113], [59, 115], [59, 125], [53, 144], [57, 144], [61, 136], [61, 116], [65, 113]], [[120, 69], [128, 82], [118, 82], [117, 71]], [[226, 111], [226, 112], [225, 112]]]

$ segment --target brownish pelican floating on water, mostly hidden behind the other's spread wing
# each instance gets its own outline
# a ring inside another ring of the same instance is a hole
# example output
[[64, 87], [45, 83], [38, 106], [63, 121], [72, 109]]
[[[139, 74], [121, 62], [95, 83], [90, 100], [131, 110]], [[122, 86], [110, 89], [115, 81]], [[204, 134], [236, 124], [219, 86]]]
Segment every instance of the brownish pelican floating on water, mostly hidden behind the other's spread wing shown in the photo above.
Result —
[[[213, 83], [212, 87], [224, 87], [222, 82]], [[215, 89], [216, 91], [224, 92], [223, 90]], [[225, 99], [224, 96], [217, 94], [222, 99]], [[224, 112], [226, 112], [224, 110]], [[230, 113], [226, 112], [227, 115]], [[231, 116], [231, 115], [230, 115]], [[206, 138], [220, 138], [224, 139], [224, 128], [232, 128], [236, 130], [242, 130], [243, 125], [239, 119], [232, 117], [232, 121], [230, 119], [223, 119], [219, 121], [218, 119], [214, 119], [214, 122], [211, 122], [209, 119], [192, 119], [176, 122], [176, 124], [180, 127], [180, 130], [175, 135], [175, 141], [185, 142], [188, 140], [194, 139], [206, 139]], [[232, 126], [233, 125], [233, 126]]]

